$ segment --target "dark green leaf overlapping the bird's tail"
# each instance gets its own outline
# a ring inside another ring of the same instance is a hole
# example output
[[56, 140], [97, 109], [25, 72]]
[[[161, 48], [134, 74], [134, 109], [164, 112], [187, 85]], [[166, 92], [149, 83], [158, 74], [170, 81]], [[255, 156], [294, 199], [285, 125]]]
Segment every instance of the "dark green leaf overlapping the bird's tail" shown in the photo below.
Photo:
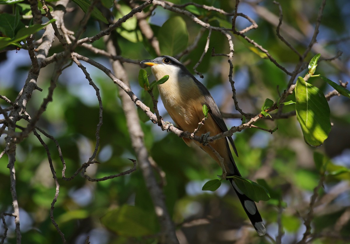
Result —
[[233, 178], [238, 188], [254, 202], [258, 203], [260, 200], [267, 201], [270, 199], [268, 191], [262, 185], [236, 175], [228, 178]]

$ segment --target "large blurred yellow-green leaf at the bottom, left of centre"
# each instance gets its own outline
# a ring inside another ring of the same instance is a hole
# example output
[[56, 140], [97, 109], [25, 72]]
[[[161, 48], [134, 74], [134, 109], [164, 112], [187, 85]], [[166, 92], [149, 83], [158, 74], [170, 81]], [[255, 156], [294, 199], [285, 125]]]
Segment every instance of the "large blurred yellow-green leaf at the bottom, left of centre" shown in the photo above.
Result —
[[154, 212], [126, 204], [107, 212], [101, 222], [117, 235], [126, 237], [154, 235], [159, 229]]

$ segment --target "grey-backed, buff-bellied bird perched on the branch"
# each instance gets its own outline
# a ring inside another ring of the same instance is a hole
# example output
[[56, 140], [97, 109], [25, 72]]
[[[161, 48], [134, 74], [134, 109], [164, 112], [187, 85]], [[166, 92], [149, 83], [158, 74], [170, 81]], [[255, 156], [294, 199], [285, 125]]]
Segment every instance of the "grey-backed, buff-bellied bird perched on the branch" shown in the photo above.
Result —
[[[198, 131], [198, 135], [208, 132], [211, 135], [217, 135], [228, 130], [208, 89], [182, 63], [170, 56], [160, 56], [154, 60], [143, 60], [141, 63], [151, 66], [156, 80], [169, 75], [169, 79], [165, 83], [159, 84], [158, 89], [164, 107], [174, 120], [176, 126], [184, 131], [193, 132], [204, 117], [202, 106], [206, 104], [209, 108], [208, 119]], [[216, 140], [210, 143], [210, 145], [224, 159], [227, 176], [241, 176], [233, 160], [228, 140], [238, 156], [237, 149], [232, 137], [227, 138]], [[189, 138], [183, 138], [183, 140], [187, 145], [194, 141]], [[194, 142], [221, 166], [219, 159], [209, 147], [200, 142]], [[229, 178], [229, 180], [255, 230], [260, 236], [265, 235], [266, 229], [254, 201], [243, 194], [232, 178]]]

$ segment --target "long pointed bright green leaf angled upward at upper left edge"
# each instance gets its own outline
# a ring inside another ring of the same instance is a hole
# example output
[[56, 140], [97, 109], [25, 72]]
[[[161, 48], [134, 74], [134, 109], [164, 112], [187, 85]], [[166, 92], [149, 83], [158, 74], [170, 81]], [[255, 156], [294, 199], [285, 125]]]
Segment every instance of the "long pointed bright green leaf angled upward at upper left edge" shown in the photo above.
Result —
[[19, 29], [19, 31], [16, 33], [15, 37], [12, 39], [9, 38], [0, 38], [0, 49], [4, 48], [8, 45], [16, 45], [21, 47], [21, 45], [18, 44], [18, 42], [22, 41], [23, 39], [27, 38], [31, 34], [34, 34], [41, 29], [43, 29], [45, 26], [49, 25], [50, 23], [56, 21], [55, 19], [51, 19], [49, 22], [41, 25], [41, 24], [35, 24], [32, 26], [29, 26], [28, 28], [24, 27]]

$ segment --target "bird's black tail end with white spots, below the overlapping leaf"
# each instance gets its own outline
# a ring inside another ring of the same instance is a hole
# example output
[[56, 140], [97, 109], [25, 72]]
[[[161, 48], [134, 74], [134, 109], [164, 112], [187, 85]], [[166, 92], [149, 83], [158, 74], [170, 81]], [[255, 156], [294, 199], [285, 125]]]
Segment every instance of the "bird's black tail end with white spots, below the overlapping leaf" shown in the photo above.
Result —
[[266, 228], [264, 225], [264, 222], [262, 222], [261, 215], [259, 213], [259, 210], [257, 208], [257, 205], [255, 205], [255, 202], [244, 195], [244, 193], [237, 187], [236, 183], [233, 181], [232, 178], [229, 178], [231, 185], [233, 189], [235, 189], [236, 194], [239, 198], [239, 201], [241, 202], [244, 211], [246, 212], [248, 218], [252, 222], [255, 230], [258, 232], [259, 236], [263, 236], [266, 233]]

